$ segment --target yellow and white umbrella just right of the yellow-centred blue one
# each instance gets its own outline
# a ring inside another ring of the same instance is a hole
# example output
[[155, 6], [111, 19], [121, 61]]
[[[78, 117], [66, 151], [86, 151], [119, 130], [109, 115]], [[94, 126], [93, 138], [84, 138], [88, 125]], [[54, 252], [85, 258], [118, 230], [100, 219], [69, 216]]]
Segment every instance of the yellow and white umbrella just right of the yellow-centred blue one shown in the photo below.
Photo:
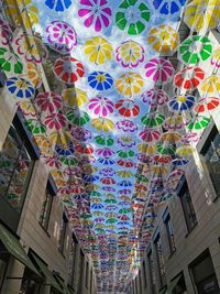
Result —
[[125, 96], [139, 94], [144, 86], [144, 79], [140, 74], [125, 73], [116, 80], [117, 90]]

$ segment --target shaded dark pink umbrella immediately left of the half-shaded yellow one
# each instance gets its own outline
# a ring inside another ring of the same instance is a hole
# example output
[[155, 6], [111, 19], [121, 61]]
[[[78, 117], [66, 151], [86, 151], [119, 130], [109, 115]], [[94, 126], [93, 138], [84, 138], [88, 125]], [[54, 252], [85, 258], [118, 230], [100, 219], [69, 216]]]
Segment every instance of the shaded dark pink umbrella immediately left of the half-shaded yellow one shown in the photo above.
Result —
[[34, 101], [41, 111], [48, 111], [50, 113], [62, 108], [62, 97], [52, 91], [40, 92]]

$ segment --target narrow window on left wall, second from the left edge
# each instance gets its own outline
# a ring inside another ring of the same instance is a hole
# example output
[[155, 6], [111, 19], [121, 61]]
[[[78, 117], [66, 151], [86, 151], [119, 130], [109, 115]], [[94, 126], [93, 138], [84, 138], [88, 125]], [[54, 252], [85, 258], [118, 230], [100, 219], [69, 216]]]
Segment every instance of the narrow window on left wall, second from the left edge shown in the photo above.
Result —
[[40, 218], [38, 218], [38, 222], [41, 224], [41, 226], [45, 230], [48, 229], [48, 222], [50, 222], [54, 195], [55, 194], [52, 194], [52, 190], [50, 190], [48, 184], [47, 184], [45, 194], [42, 197], [43, 198], [42, 199], [42, 208], [41, 208], [41, 214], [40, 214]]

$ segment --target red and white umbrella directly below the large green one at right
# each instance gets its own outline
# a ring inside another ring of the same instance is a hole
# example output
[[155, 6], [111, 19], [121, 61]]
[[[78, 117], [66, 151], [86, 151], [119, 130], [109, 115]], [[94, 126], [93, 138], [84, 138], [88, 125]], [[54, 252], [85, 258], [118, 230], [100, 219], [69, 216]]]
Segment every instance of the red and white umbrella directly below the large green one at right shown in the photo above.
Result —
[[197, 88], [204, 78], [205, 72], [200, 67], [187, 66], [175, 75], [174, 84], [189, 90]]

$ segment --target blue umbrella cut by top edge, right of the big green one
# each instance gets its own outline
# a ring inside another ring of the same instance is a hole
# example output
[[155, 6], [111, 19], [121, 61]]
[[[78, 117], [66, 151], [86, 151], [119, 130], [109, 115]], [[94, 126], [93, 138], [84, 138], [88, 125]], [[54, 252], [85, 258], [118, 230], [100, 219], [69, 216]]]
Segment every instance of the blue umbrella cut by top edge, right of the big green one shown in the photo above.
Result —
[[160, 17], [176, 17], [180, 14], [182, 7], [186, 0], [153, 0], [154, 9], [160, 13]]

